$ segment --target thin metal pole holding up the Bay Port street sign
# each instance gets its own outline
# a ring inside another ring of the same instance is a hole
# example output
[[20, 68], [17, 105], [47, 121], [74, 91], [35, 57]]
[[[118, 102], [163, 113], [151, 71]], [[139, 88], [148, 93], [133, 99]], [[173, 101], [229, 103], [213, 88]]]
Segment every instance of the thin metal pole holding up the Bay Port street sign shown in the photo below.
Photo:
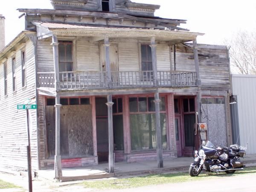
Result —
[[27, 160], [28, 160], [28, 178], [29, 178], [29, 192], [32, 192], [32, 170], [31, 170], [31, 148], [30, 148], [30, 131], [29, 131], [29, 109], [26, 109], [27, 118], [27, 133], [28, 133], [28, 145], [27, 145]]

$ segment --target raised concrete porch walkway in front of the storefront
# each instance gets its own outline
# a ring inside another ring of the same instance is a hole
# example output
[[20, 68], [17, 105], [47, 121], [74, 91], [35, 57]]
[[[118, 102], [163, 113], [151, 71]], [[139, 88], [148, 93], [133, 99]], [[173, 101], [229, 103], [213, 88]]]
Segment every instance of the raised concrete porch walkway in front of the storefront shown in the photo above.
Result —
[[[157, 161], [141, 161], [134, 163], [115, 163], [114, 173], [109, 174], [108, 163], [100, 163], [98, 166], [88, 166], [82, 168], [62, 169], [62, 181], [100, 179], [108, 177], [117, 177], [124, 175], [139, 175], [145, 173], [171, 172], [189, 170], [190, 164], [193, 162], [193, 157], [180, 157], [172, 160], [164, 160], [163, 168], [157, 168]], [[247, 155], [244, 163], [256, 163], [256, 154]], [[38, 172], [38, 177], [43, 177], [52, 180], [55, 176], [54, 170], [41, 170]]]

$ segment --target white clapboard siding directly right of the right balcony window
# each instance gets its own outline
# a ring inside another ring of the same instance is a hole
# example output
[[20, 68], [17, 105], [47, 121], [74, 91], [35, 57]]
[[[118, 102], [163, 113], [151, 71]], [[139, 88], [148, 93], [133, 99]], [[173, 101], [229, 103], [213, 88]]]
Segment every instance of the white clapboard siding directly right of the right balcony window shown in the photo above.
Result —
[[170, 48], [168, 45], [157, 44], [157, 70], [171, 70]]

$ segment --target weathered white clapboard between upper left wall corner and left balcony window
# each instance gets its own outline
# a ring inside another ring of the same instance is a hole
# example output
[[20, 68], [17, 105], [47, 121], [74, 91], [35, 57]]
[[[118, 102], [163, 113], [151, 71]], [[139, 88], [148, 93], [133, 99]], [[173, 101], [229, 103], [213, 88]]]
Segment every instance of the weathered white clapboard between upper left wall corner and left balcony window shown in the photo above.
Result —
[[37, 44], [38, 72], [54, 72], [51, 40], [40, 40]]

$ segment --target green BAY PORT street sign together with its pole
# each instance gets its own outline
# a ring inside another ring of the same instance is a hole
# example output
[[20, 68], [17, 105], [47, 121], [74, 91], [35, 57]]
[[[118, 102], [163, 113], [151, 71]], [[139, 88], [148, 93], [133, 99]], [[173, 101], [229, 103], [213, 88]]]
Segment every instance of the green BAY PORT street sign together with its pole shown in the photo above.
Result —
[[[31, 99], [30, 99], [31, 100]], [[28, 101], [30, 101], [28, 100]], [[19, 104], [17, 105], [18, 110], [26, 110], [26, 120], [27, 120], [27, 133], [28, 133], [28, 145], [27, 145], [27, 160], [28, 160], [28, 177], [29, 177], [29, 192], [32, 192], [32, 169], [31, 169], [31, 148], [30, 148], [30, 131], [29, 131], [29, 110], [37, 109], [37, 105], [31, 104]]]

